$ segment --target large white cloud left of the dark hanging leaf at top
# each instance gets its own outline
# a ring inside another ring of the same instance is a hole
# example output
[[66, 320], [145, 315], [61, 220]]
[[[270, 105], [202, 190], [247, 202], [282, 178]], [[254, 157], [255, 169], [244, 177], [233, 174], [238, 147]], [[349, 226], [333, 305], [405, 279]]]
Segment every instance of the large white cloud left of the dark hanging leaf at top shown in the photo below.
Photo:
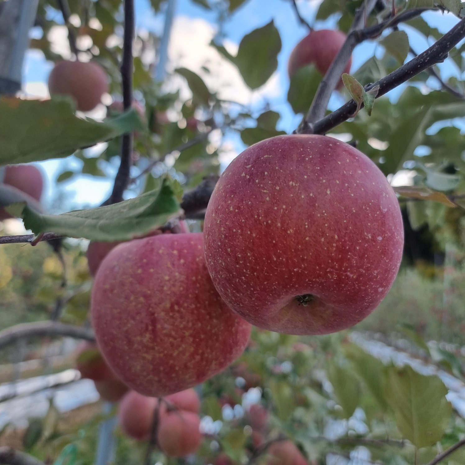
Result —
[[[244, 105], [263, 97], [276, 97], [282, 93], [276, 73], [258, 90], [249, 89], [236, 66], [209, 46], [215, 33], [216, 28], [206, 20], [186, 16], [176, 17], [168, 47], [168, 70], [186, 67], [199, 74], [210, 91], [218, 93], [219, 98]], [[237, 53], [237, 44], [226, 41], [224, 45], [230, 53]], [[210, 73], [202, 69], [202, 66], [208, 68]], [[179, 76], [173, 77], [168, 86], [170, 90], [179, 87], [183, 98], [190, 96], [185, 81]]]

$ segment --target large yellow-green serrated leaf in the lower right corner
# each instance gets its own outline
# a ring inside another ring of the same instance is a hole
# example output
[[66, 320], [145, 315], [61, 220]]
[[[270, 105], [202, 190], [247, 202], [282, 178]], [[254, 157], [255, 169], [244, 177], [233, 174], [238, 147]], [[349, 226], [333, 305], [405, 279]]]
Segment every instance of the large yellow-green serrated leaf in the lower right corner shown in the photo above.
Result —
[[436, 444], [451, 419], [447, 388], [437, 376], [424, 376], [410, 366], [389, 369], [386, 399], [402, 435], [416, 447]]

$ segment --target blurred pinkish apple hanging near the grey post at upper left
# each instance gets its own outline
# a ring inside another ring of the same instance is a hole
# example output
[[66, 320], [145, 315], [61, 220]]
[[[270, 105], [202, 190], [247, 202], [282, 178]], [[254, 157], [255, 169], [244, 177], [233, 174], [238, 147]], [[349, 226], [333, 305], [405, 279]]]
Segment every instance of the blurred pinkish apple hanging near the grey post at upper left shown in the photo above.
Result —
[[71, 95], [78, 110], [89, 112], [108, 92], [108, 78], [105, 70], [93, 61], [60, 61], [48, 77], [48, 90], [51, 95]]

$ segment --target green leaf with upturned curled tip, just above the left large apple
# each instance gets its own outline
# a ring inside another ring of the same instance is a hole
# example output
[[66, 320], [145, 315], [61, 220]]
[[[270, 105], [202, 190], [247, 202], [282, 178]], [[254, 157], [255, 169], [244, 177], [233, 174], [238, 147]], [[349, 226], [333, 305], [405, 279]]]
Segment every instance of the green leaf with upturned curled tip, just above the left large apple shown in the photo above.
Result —
[[61, 215], [37, 213], [26, 206], [21, 217], [26, 229], [31, 229], [36, 235], [57, 233], [66, 237], [111, 242], [130, 240], [149, 233], [178, 212], [179, 202], [172, 186], [164, 179], [158, 190], [117, 204]]

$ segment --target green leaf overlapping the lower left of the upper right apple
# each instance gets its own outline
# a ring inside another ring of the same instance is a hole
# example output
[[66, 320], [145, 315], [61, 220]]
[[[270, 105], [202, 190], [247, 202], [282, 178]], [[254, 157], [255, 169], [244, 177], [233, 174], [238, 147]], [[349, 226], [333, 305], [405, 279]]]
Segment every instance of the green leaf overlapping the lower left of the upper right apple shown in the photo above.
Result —
[[323, 75], [314, 65], [304, 66], [292, 75], [287, 101], [294, 113], [308, 111], [322, 79]]

